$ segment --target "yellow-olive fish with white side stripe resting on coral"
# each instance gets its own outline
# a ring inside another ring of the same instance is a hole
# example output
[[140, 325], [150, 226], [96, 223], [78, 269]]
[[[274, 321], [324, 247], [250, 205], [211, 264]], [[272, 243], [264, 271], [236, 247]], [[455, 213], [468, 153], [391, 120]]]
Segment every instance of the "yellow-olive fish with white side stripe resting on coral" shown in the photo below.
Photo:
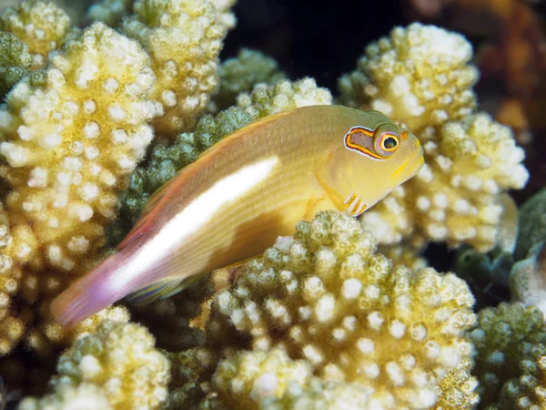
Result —
[[169, 297], [257, 257], [320, 210], [358, 217], [423, 164], [419, 139], [379, 111], [308, 106], [258, 119], [157, 190], [116, 253], [51, 313], [70, 328], [123, 298]]

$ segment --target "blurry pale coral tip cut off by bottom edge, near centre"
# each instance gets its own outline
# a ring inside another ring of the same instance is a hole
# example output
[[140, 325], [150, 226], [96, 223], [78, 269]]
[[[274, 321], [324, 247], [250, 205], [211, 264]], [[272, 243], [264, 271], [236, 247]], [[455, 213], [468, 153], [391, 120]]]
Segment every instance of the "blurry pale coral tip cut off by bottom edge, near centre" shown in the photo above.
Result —
[[369, 390], [359, 384], [339, 381], [324, 382], [314, 377], [308, 386], [290, 384], [286, 393], [280, 397], [266, 397], [260, 403], [263, 410], [359, 410], [371, 407]]

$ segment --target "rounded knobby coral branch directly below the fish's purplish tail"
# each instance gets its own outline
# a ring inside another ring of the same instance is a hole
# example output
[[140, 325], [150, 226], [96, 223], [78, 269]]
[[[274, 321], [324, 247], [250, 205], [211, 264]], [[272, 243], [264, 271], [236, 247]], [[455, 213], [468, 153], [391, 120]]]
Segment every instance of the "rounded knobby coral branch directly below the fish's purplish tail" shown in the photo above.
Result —
[[147, 329], [104, 321], [59, 358], [51, 384], [95, 384], [114, 409], [159, 408], [167, 400], [170, 366]]

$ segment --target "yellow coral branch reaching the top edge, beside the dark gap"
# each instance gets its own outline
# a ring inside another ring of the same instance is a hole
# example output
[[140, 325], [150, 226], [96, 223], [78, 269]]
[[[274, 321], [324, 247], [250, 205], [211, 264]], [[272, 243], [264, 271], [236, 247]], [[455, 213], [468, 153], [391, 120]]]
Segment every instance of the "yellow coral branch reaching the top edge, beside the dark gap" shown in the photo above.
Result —
[[193, 128], [217, 87], [218, 54], [227, 28], [208, 0], [136, 0], [122, 31], [141, 42], [157, 75], [153, 97], [165, 114], [158, 133]]

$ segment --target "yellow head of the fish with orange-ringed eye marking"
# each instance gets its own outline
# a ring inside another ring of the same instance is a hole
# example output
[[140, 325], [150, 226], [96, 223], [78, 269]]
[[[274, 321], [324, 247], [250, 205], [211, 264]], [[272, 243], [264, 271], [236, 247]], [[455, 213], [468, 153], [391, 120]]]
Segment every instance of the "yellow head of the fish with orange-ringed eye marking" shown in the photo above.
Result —
[[339, 175], [339, 195], [349, 214], [358, 216], [424, 164], [420, 140], [379, 111], [353, 113], [346, 125]]

